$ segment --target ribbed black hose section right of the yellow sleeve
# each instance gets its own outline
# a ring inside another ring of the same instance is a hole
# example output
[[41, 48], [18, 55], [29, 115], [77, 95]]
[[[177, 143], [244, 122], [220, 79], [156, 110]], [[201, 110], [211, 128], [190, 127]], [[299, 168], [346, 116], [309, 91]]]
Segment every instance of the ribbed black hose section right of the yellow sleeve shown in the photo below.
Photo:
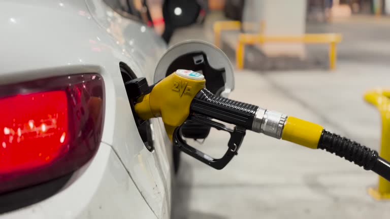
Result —
[[345, 158], [366, 170], [372, 170], [390, 181], [390, 163], [379, 157], [375, 150], [358, 142], [323, 130], [317, 148]]

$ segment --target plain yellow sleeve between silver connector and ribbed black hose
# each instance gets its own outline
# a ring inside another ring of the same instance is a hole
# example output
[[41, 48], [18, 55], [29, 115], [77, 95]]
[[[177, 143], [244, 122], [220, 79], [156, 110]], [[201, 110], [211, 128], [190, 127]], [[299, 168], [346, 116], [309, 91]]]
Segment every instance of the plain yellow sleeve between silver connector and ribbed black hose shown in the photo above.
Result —
[[315, 123], [295, 117], [287, 117], [282, 132], [282, 139], [311, 149], [317, 149], [322, 130], [322, 126]]

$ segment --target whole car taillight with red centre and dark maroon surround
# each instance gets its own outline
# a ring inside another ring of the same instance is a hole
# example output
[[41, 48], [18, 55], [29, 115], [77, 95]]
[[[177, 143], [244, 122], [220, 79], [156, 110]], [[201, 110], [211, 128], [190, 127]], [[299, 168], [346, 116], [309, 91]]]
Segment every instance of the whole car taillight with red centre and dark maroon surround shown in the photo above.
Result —
[[0, 193], [70, 173], [102, 137], [99, 75], [50, 78], [0, 87]]

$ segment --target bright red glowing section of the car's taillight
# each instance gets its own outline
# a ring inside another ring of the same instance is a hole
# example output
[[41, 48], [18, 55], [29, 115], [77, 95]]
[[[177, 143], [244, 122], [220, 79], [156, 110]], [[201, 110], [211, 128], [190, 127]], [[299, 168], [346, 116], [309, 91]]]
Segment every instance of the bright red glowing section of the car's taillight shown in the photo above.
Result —
[[65, 91], [0, 99], [0, 174], [50, 164], [67, 152], [68, 100]]

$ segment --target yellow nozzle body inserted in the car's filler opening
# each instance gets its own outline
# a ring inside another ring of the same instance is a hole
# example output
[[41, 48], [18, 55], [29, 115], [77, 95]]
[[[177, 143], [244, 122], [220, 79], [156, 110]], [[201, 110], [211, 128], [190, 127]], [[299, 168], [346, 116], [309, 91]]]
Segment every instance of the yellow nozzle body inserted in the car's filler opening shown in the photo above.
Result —
[[161, 117], [168, 136], [185, 122], [192, 99], [205, 87], [203, 75], [191, 70], [179, 69], [158, 82], [149, 94], [140, 97], [135, 111], [143, 120]]

